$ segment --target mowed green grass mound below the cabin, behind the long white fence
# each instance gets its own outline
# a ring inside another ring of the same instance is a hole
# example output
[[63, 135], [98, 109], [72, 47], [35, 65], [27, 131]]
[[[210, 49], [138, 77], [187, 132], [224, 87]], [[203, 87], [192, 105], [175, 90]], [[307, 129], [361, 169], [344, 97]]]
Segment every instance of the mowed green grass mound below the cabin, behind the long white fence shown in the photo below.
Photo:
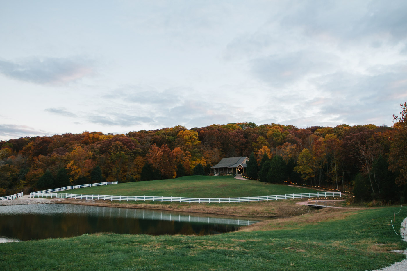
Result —
[[320, 192], [256, 180], [240, 180], [232, 176], [186, 176], [177, 179], [138, 181], [63, 191], [63, 193], [116, 196], [168, 197], [254, 197]]

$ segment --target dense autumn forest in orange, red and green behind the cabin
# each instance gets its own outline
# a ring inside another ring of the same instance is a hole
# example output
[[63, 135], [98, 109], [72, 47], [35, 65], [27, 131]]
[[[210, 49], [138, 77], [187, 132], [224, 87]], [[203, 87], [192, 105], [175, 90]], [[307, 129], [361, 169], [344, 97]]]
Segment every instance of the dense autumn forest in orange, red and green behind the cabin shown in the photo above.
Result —
[[204, 175], [221, 158], [249, 156], [247, 175], [335, 189], [357, 200], [407, 196], [407, 106], [392, 127], [297, 128], [253, 122], [0, 141], [0, 196], [100, 181]]

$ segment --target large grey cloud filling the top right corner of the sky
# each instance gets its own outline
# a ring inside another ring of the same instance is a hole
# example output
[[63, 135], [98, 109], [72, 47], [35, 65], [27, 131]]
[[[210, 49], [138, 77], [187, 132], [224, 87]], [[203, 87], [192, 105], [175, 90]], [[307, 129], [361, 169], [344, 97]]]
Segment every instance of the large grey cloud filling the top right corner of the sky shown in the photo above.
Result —
[[305, 35], [336, 37], [346, 42], [371, 37], [399, 42], [407, 36], [406, 9], [403, 0], [300, 1], [286, 9], [280, 25], [301, 29]]

